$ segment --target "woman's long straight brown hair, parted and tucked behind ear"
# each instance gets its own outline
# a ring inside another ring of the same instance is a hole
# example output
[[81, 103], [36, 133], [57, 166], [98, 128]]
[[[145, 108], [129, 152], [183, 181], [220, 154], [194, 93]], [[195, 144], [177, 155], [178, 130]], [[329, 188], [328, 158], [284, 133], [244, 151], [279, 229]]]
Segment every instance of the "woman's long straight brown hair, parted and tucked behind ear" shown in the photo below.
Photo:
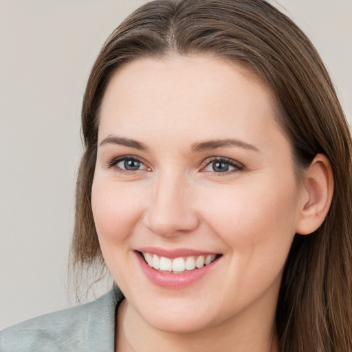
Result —
[[331, 162], [331, 208], [314, 234], [296, 234], [279, 294], [281, 351], [352, 351], [351, 137], [327, 69], [303, 32], [263, 0], [157, 0], [107, 39], [87, 83], [72, 262], [103, 266], [91, 212], [99, 109], [114, 72], [144, 56], [211, 54], [252, 67], [277, 99], [297, 179], [317, 153]]

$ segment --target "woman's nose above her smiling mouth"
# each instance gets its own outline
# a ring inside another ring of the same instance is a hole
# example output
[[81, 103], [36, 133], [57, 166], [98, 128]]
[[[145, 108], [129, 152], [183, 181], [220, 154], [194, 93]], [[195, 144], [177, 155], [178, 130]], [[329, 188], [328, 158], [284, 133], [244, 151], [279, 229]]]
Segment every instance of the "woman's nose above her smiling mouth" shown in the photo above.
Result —
[[199, 225], [194, 201], [195, 192], [184, 177], [160, 176], [151, 190], [144, 225], [159, 236], [191, 232]]

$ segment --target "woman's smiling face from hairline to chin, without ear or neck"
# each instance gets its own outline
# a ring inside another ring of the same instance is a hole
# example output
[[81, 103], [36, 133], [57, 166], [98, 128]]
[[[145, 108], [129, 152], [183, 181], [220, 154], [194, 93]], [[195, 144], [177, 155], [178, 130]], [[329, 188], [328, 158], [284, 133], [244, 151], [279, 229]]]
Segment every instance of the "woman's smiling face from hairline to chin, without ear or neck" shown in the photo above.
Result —
[[274, 320], [301, 202], [273, 104], [254, 74], [210, 56], [144, 58], [109, 83], [94, 220], [113, 278], [148, 325]]

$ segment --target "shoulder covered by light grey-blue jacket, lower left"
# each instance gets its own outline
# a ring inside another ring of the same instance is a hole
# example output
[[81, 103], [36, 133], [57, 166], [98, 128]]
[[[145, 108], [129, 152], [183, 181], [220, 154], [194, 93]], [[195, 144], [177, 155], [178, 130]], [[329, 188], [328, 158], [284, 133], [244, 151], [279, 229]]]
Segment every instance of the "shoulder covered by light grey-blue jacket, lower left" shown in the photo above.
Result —
[[123, 299], [114, 288], [94, 302], [55, 311], [0, 331], [1, 352], [113, 351], [115, 310]]

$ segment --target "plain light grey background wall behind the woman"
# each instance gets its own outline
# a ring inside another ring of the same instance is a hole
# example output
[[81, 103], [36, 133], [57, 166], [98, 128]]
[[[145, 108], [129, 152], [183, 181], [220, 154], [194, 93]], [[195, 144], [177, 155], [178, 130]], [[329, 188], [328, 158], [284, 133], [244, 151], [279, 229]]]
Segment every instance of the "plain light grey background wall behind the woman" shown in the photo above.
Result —
[[[72, 305], [67, 253], [85, 83], [104, 40], [145, 2], [0, 0], [0, 329]], [[351, 121], [352, 0], [276, 5], [318, 48]]]

